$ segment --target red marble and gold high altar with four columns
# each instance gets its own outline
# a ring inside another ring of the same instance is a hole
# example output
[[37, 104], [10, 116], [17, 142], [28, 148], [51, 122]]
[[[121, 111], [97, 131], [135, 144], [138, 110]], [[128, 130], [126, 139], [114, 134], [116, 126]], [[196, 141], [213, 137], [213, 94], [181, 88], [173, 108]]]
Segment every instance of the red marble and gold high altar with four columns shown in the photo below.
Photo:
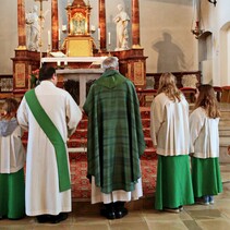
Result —
[[[26, 47], [25, 4], [20, 0], [17, 3], [17, 27], [19, 47], [15, 49], [13, 61], [13, 94], [22, 97], [29, 89], [29, 77], [33, 71], [37, 71], [43, 63], [47, 63], [58, 70], [58, 74], [65, 78], [75, 78], [80, 83], [80, 98], [83, 105], [83, 97], [86, 95], [85, 85], [89, 78], [97, 78], [102, 70], [101, 62], [108, 56], [119, 59], [119, 71], [130, 78], [136, 88], [146, 86], [146, 59], [144, 48], [140, 45], [140, 9], [138, 0], [132, 1], [132, 29], [129, 49], [111, 50], [110, 33], [107, 35], [106, 2], [98, 2], [98, 24], [89, 22], [90, 4], [84, 0], [68, 1], [65, 7], [68, 24], [65, 29], [59, 26], [59, 4], [51, 0], [51, 27], [48, 31], [48, 46], [43, 47], [41, 40], [39, 51], [28, 50]], [[40, 9], [43, 1], [40, 1]], [[39, 19], [43, 19], [40, 10]], [[41, 23], [41, 22], [40, 22]], [[96, 22], [94, 22], [96, 23]], [[97, 28], [97, 39], [93, 34]], [[62, 36], [61, 36], [62, 35]], [[63, 35], [65, 36], [63, 38]], [[107, 40], [107, 37], [109, 38]], [[41, 39], [41, 38], [40, 38]], [[64, 43], [62, 44], [62, 41]], [[62, 46], [63, 45], [63, 46]], [[45, 51], [46, 50], [46, 51]], [[52, 53], [61, 53], [53, 57]], [[85, 69], [87, 77], [82, 69]], [[98, 69], [98, 70], [96, 70]], [[77, 71], [80, 72], [77, 73]], [[63, 72], [62, 72], [63, 71]], [[92, 73], [89, 73], [92, 72]], [[97, 76], [95, 75], [97, 72]], [[76, 76], [74, 76], [76, 74]], [[81, 76], [80, 76], [81, 75]], [[84, 81], [86, 81], [84, 83]]]

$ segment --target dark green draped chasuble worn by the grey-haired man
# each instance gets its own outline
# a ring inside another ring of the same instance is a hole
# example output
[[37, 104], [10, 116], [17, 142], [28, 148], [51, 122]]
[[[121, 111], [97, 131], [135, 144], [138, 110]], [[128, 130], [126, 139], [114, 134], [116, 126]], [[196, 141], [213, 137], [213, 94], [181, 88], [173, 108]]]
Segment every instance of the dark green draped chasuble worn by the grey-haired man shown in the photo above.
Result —
[[116, 70], [106, 71], [92, 85], [83, 109], [88, 116], [87, 174], [102, 193], [133, 191], [145, 149], [133, 83]]

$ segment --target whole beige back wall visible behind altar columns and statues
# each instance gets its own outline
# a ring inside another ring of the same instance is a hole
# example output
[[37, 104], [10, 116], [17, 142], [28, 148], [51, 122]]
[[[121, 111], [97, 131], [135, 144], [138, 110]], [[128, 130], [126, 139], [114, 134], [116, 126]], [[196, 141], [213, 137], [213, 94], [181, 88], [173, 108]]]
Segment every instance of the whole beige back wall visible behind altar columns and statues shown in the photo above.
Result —
[[[26, 12], [34, 4], [33, 0], [25, 0]], [[45, 29], [43, 32], [43, 51], [47, 50], [47, 31], [51, 29], [51, 1], [44, 2]], [[65, 7], [68, 0], [59, 0], [59, 26], [66, 24]], [[98, 27], [98, 1], [89, 0], [92, 5], [90, 25]], [[16, 0], [1, 1], [0, 8], [0, 74], [12, 74], [14, 49], [17, 47]], [[118, 13], [117, 5], [122, 3], [130, 17], [132, 0], [107, 0], [107, 33], [111, 33], [111, 49], [116, 48], [116, 25], [112, 19]], [[165, 71], [196, 71], [197, 40], [191, 33], [193, 19], [193, 0], [140, 0], [141, 46], [147, 59], [147, 72]], [[130, 47], [132, 46], [131, 23]], [[62, 34], [62, 40], [66, 34]], [[96, 45], [97, 31], [92, 35]]]

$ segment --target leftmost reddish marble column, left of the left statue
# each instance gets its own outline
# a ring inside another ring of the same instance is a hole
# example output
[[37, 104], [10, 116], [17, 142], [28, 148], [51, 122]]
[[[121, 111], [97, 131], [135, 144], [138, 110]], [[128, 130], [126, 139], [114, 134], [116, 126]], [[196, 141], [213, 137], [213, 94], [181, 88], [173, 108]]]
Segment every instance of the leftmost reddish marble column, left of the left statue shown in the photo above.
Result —
[[25, 31], [25, 0], [17, 0], [17, 50], [26, 49], [26, 31]]

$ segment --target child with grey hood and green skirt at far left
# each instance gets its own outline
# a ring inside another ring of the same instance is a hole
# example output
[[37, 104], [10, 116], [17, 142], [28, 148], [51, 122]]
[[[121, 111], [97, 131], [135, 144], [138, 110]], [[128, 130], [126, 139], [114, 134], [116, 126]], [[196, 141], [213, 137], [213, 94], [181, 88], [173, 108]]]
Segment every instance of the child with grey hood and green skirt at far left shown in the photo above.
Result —
[[17, 101], [5, 99], [0, 118], [0, 219], [25, 216], [25, 152], [16, 121]]

